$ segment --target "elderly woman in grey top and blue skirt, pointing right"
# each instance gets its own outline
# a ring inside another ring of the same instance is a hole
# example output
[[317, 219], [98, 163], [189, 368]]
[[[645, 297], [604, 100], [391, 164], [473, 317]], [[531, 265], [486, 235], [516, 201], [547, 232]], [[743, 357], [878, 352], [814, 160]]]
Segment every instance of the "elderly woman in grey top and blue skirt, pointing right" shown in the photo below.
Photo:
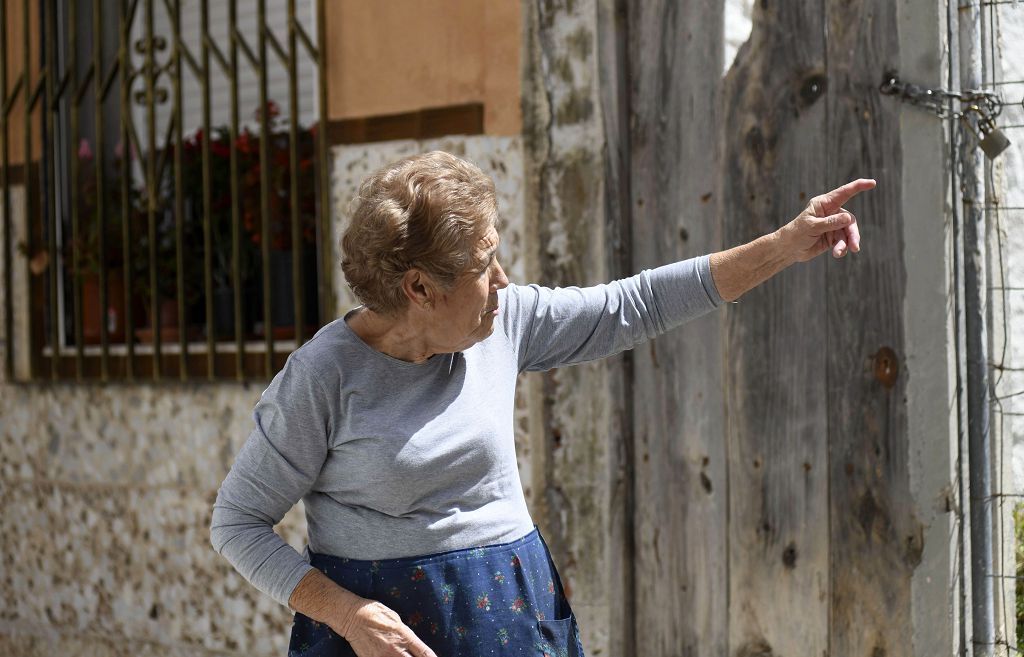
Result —
[[[263, 392], [217, 495], [211, 538], [296, 611], [289, 654], [582, 656], [523, 498], [512, 436], [524, 370], [601, 358], [739, 297], [787, 265], [859, 250], [811, 201], [770, 235], [594, 288], [510, 284], [494, 183], [444, 152], [362, 183], [342, 268], [362, 305]], [[299, 499], [309, 546], [273, 532]]]

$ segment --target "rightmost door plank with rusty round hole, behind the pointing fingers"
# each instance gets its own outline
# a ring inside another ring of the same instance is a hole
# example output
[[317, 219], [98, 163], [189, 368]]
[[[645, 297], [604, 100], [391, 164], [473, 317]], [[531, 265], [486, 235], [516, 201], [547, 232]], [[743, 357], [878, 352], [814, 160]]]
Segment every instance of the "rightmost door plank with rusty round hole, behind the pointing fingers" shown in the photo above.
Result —
[[861, 218], [863, 250], [827, 265], [829, 655], [896, 657], [912, 654], [910, 575], [923, 535], [907, 468], [899, 108], [878, 92], [899, 61], [898, 4], [825, 7], [828, 182], [879, 180], [849, 206]]

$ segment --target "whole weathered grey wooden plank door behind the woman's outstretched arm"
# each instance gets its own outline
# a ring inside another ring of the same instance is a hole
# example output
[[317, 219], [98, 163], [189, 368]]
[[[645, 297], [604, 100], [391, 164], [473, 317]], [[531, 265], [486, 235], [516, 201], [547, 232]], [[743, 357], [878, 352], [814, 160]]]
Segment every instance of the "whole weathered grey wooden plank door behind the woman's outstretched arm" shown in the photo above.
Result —
[[842, 182], [864, 249], [794, 266], [634, 360], [636, 655], [906, 655], [908, 495], [890, 0], [627, 3], [636, 269], [751, 240]]

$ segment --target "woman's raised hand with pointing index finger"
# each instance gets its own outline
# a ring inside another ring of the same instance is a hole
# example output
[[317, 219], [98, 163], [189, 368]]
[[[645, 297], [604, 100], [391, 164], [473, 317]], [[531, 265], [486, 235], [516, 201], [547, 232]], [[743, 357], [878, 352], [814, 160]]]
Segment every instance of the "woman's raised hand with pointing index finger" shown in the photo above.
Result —
[[874, 185], [874, 180], [860, 178], [811, 199], [800, 216], [776, 231], [790, 257], [807, 262], [828, 250], [836, 258], [860, 251], [857, 218], [843, 205]]

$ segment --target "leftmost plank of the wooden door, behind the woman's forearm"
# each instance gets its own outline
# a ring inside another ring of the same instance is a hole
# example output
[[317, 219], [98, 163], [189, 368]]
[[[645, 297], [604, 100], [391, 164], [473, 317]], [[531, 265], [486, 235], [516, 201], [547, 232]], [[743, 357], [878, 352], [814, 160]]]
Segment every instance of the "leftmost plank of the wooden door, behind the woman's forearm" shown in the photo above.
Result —
[[[629, 3], [636, 270], [715, 251], [723, 3]], [[721, 312], [634, 351], [636, 654], [727, 645]]]

